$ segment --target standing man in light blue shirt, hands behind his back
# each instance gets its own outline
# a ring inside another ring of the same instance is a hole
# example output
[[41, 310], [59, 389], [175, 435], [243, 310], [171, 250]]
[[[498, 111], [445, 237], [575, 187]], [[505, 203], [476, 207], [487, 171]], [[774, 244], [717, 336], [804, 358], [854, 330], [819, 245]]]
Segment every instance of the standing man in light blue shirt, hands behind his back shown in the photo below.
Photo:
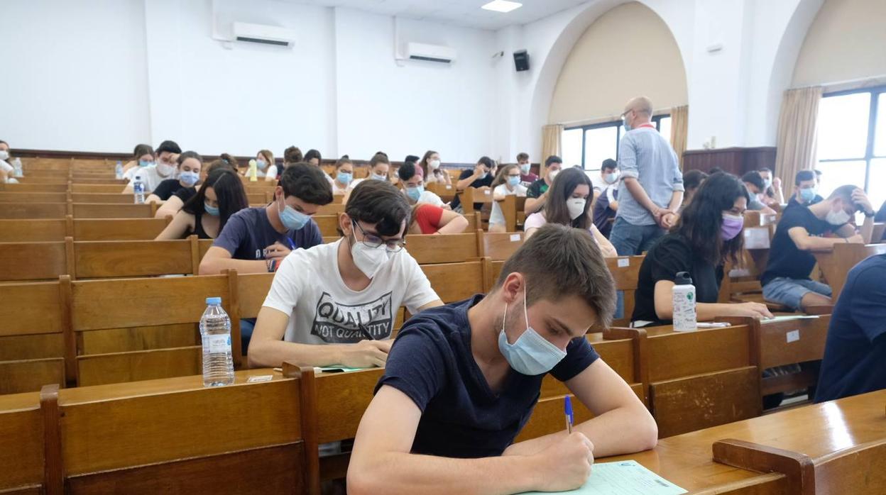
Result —
[[635, 97], [622, 113], [627, 132], [618, 145], [618, 213], [610, 241], [621, 256], [649, 251], [677, 221], [683, 175], [671, 143], [651, 123], [652, 102]]

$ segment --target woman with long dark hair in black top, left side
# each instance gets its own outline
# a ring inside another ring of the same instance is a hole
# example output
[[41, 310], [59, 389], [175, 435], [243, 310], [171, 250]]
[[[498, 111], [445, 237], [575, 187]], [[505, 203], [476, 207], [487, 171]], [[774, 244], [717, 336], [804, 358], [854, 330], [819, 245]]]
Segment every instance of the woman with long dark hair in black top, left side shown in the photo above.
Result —
[[182, 239], [191, 234], [200, 239], [214, 239], [231, 215], [248, 206], [246, 191], [237, 173], [229, 168], [216, 168], [156, 240]]

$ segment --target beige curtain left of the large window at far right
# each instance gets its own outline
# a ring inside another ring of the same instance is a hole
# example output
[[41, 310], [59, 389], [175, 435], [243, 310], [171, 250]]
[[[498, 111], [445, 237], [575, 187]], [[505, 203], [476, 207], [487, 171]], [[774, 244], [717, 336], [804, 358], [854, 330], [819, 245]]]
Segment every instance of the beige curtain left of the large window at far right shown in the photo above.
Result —
[[775, 172], [784, 196], [794, 194], [794, 177], [815, 167], [821, 87], [789, 89], [781, 100]]

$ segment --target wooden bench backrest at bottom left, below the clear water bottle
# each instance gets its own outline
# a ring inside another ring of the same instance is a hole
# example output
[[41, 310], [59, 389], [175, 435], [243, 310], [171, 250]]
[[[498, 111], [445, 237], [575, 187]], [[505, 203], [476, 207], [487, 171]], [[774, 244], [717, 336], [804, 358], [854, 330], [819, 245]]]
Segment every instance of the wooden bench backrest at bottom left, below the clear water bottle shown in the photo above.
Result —
[[[68, 491], [309, 492], [316, 444], [303, 424], [314, 405], [298, 379], [248, 375], [227, 387], [187, 376], [61, 391], [58, 470]], [[249, 421], [233, 428], [232, 418]]]

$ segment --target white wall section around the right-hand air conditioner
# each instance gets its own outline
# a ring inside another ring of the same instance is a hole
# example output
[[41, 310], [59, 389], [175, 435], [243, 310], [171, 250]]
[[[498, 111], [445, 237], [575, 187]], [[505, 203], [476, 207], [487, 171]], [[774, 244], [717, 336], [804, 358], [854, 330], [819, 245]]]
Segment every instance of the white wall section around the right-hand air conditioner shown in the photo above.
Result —
[[401, 43], [442, 44], [458, 53], [451, 66], [399, 65], [394, 24], [388, 16], [335, 11], [338, 150], [352, 158], [383, 150], [400, 160], [430, 149], [443, 161], [464, 163], [492, 154], [493, 128], [501, 122], [494, 113], [494, 33], [399, 19]]

